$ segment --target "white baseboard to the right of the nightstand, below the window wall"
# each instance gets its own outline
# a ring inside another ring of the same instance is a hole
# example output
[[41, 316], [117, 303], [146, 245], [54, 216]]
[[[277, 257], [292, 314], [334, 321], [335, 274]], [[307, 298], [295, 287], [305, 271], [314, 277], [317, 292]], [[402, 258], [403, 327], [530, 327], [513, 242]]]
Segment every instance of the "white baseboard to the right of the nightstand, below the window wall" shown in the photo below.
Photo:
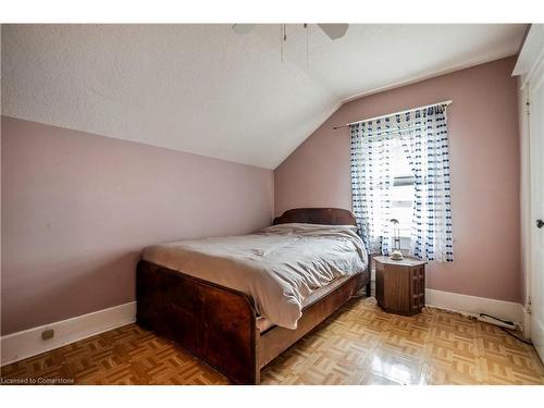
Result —
[[524, 323], [523, 306], [514, 301], [425, 289], [425, 302], [429, 306], [456, 311], [474, 318], [478, 318], [480, 313], [487, 313], [503, 320], [512, 321], [519, 326], [523, 326]]

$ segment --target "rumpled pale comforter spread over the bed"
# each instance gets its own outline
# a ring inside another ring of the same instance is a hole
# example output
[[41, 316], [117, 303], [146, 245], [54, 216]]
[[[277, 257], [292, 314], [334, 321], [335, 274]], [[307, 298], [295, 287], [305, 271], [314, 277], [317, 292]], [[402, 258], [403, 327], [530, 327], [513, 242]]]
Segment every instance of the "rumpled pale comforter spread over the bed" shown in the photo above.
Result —
[[144, 259], [250, 295], [272, 323], [296, 329], [302, 302], [367, 265], [353, 226], [281, 224], [242, 236], [148, 247]]

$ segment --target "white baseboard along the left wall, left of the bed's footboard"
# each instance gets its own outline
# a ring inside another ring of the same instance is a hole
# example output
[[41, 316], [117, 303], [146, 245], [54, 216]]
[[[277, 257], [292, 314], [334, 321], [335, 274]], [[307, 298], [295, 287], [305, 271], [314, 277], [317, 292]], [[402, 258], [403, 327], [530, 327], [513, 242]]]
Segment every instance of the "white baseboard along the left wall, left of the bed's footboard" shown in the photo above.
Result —
[[[22, 332], [8, 334], [0, 338], [1, 364], [23, 360], [53, 348], [107, 332], [136, 321], [136, 301], [98, 310], [92, 313], [45, 324]], [[54, 336], [44, 341], [41, 332], [54, 330]]]

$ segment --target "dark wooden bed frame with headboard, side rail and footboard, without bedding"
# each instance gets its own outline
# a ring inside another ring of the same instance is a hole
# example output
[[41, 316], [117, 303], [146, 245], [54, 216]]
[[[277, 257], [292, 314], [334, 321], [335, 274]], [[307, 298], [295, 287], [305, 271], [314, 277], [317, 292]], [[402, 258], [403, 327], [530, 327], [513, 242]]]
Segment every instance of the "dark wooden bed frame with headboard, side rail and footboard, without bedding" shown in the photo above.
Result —
[[[275, 224], [302, 222], [356, 225], [348, 210], [301, 208], [274, 219]], [[302, 309], [298, 327], [257, 327], [248, 295], [168, 268], [139, 261], [136, 273], [137, 323], [183, 348], [237, 384], [259, 384], [260, 371], [367, 285], [369, 268], [334, 281], [334, 289]]]

